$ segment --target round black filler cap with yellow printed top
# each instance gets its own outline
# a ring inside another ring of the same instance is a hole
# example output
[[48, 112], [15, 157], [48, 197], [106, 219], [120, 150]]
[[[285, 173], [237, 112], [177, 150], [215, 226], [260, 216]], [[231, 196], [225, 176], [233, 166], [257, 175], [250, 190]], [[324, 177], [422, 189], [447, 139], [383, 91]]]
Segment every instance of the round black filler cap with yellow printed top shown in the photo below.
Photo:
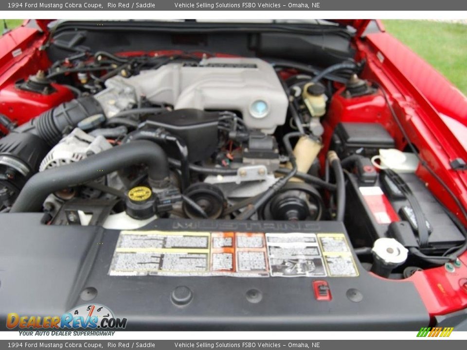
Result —
[[154, 201], [155, 198], [149, 187], [133, 187], [126, 194], [126, 213], [133, 219], [148, 219], [154, 216]]

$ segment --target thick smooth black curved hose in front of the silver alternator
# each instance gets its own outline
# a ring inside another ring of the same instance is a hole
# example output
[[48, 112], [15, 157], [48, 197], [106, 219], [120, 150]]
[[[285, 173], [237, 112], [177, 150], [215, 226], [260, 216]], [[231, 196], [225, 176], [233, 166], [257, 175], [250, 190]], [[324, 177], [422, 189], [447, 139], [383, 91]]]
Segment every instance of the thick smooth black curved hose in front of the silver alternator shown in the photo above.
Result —
[[120, 170], [129, 165], [147, 165], [148, 182], [153, 188], [169, 185], [169, 164], [162, 148], [151, 141], [137, 140], [92, 155], [77, 163], [37, 173], [29, 179], [10, 212], [40, 211], [46, 197]]

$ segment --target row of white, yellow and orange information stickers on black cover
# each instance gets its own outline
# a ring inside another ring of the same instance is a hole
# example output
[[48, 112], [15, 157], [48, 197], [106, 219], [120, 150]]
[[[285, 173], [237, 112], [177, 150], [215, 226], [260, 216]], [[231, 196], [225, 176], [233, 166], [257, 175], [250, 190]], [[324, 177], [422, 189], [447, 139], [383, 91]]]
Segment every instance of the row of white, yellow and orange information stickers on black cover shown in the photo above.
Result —
[[111, 276], [358, 276], [341, 233], [121, 231]]

